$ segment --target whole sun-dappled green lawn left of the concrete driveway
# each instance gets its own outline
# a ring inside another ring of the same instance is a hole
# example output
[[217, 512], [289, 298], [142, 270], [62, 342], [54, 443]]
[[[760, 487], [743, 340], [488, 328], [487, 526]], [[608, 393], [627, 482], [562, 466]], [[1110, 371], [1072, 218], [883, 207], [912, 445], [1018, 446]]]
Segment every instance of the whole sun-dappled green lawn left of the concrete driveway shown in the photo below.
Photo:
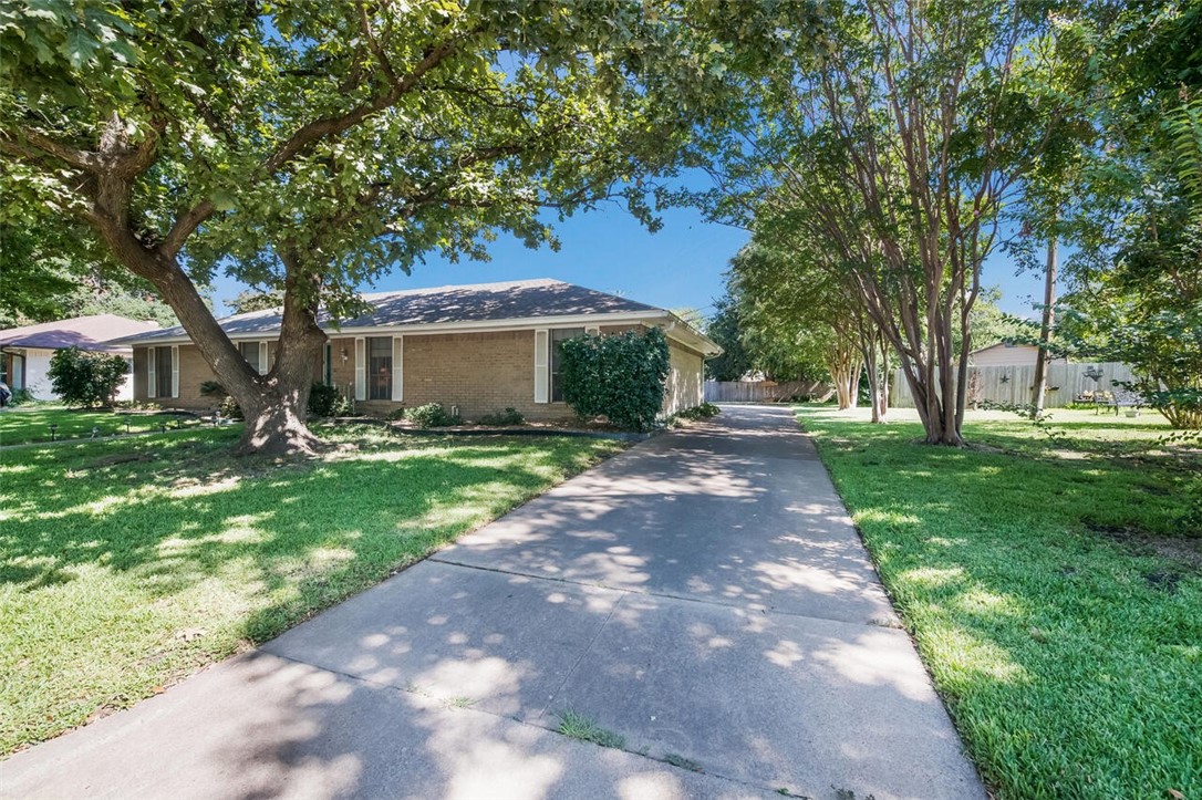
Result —
[[0, 456], [0, 752], [270, 639], [620, 448], [359, 426], [275, 462], [227, 455], [238, 432]]

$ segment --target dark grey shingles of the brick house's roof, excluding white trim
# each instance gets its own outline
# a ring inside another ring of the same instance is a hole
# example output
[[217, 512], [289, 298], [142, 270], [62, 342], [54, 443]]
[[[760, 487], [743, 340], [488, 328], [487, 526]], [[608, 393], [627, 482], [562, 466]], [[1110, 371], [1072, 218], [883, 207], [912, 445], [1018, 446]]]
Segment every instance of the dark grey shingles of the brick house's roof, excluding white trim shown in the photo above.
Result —
[[[373, 310], [353, 320], [343, 320], [340, 328], [490, 322], [618, 312], [666, 314], [662, 309], [645, 303], [549, 279], [375, 292], [364, 294], [363, 299], [373, 306]], [[237, 314], [222, 318], [220, 323], [231, 336], [273, 333], [280, 328], [280, 311], [273, 309]], [[319, 323], [327, 329], [334, 327], [325, 314], [321, 315]], [[175, 327], [156, 330], [149, 335], [124, 336], [121, 341], [141, 344], [186, 335], [183, 328]]]

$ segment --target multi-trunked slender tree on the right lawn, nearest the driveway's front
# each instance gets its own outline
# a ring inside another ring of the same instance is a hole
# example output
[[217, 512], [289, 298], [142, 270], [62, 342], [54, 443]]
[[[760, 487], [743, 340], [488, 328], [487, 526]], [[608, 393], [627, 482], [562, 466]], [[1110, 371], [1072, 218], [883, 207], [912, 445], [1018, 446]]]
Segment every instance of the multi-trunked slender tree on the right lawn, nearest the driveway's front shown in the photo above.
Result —
[[704, 202], [828, 243], [832, 274], [855, 283], [900, 363], [926, 441], [960, 444], [981, 264], [1063, 105], [1051, 20], [1042, 4], [1002, 0], [829, 11], [817, 36], [744, 76], [746, 114], [697, 149], [716, 181]]

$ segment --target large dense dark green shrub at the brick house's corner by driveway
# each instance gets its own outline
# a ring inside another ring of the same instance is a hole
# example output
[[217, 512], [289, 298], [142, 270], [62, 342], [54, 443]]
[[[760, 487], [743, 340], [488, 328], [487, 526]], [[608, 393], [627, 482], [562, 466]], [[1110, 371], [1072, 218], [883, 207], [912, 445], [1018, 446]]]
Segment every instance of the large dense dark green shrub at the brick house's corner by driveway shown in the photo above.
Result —
[[559, 344], [564, 400], [583, 418], [608, 417], [629, 430], [650, 430], [664, 406], [668, 340], [659, 328]]

